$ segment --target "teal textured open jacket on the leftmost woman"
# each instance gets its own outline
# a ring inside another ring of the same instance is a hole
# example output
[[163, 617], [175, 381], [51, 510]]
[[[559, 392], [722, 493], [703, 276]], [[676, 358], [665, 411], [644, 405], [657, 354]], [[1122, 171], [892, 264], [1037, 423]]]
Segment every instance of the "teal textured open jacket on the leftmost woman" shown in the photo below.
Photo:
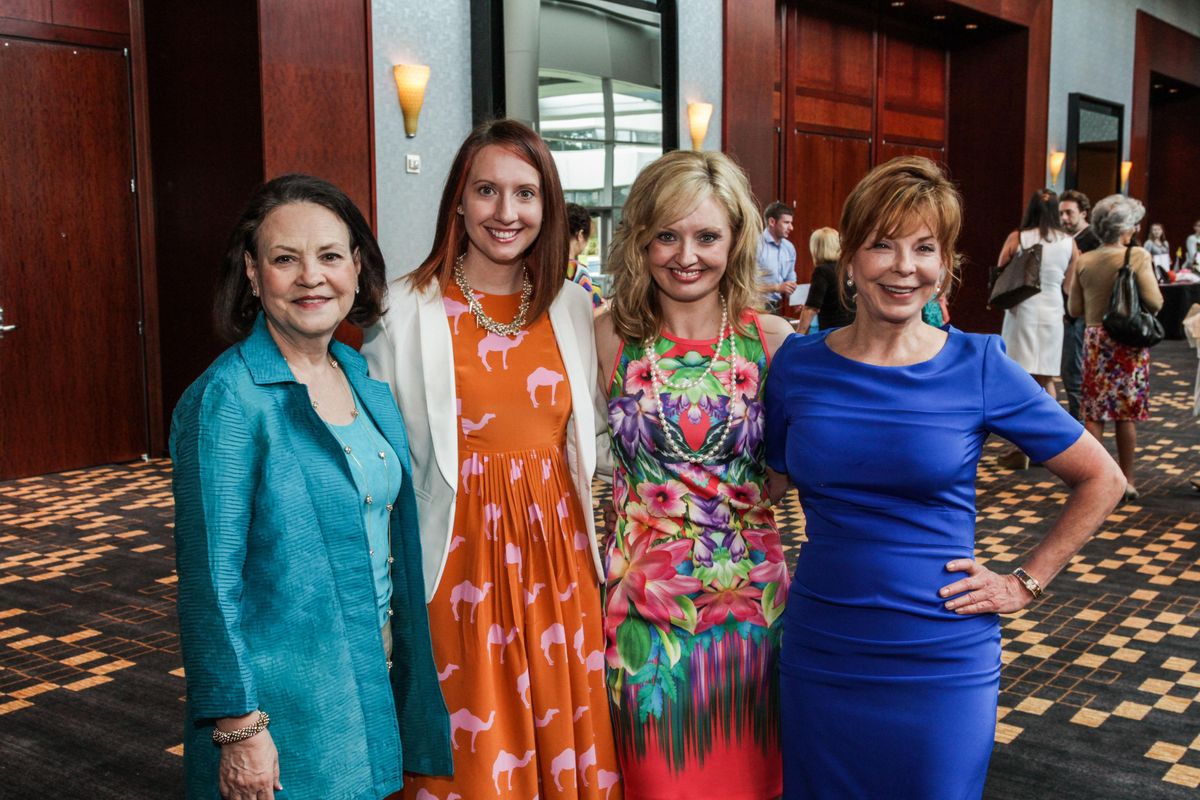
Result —
[[271, 716], [277, 799], [374, 800], [402, 770], [449, 775], [408, 441], [386, 384], [335, 342], [404, 482], [391, 515], [392, 668], [384, 660], [358, 489], [259, 315], [172, 420], [188, 798], [218, 798], [212, 721]]

